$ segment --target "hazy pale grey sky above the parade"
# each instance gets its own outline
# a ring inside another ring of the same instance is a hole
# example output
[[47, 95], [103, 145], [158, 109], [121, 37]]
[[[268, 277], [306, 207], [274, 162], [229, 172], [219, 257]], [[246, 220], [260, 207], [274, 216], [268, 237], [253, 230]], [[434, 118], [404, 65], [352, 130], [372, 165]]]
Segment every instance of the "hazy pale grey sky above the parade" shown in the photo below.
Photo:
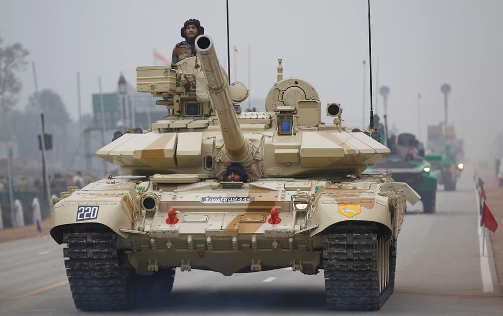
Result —
[[[19, 42], [30, 51], [39, 89], [60, 94], [76, 118], [77, 72], [82, 111], [89, 113], [91, 95], [98, 92], [98, 76], [104, 92], [116, 90], [121, 71], [134, 83], [135, 68], [153, 64], [154, 48], [171, 59], [175, 43], [183, 40], [180, 28], [189, 18], [201, 20], [226, 67], [225, 1], [186, 3], [0, 0], [0, 37], [4, 45]], [[323, 106], [340, 102], [345, 124], [361, 125], [364, 59], [369, 75], [366, 0], [229, 3], [230, 45], [239, 51], [237, 80], [245, 84], [248, 44], [251, 46], [252, 96], [265, 98], [276, 80], [277, 58], [283, 58], [285, 78], [308, 81]], [[491, 144], [503, 130], [499, 94], [503, 84], [503, 1], [373, 0], [371, 10], [373, 80], [375, 83], [378, 77], [379, 86], [390, 88], [390, 125], [399, 132], [418, 134], [421, 118], [421, 138], [425, 140], [426, 126], [444, 118], [440, 86], [447, 82], [452, 87], [449, 121], [465, 138], [468, 155], [483, 158], [493, 152]], [[18, 106], [24, 107], [34, 92], [31, 65], [21, 78]], [[378, 113], [383, 111], [382, 103], [379, 98]]]

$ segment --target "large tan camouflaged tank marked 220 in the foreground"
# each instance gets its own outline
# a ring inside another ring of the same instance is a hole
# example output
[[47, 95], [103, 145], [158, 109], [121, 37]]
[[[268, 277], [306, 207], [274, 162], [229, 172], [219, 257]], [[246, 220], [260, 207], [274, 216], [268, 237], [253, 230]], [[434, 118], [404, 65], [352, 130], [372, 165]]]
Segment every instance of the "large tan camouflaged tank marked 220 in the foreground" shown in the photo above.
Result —
[[183, 278], [291, 267], [324, 270], [330, 309], [379, 309], [393, 291], [406, 201], [420, 199], [386, 174], [362, 175], [390, 150], [347, 131], [338, 103], [325, 107], [333, 122], [321, 122], [316, 90], [283, 79], [281, 60], [266, 111], [241, 111], [248, 91], [228, 83], [210, 37], [196, 49], [178, 64], [137, 68], [137, 90], [167, 115], [97, 151], [131, 176], [54, 200], [50, 233], [67, 244], [76, 308], [165, 299], [177, 268]]

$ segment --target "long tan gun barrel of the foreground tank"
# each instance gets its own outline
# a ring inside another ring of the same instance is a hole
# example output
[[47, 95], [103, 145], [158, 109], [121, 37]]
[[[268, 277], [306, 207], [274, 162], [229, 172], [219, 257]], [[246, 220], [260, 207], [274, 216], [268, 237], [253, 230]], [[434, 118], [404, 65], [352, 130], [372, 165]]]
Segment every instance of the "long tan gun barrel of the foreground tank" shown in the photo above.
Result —
[[206, 78], [211, 104], [218, 117], [227, 155], [232, 161], [241, 161], [248, 152], [247, 143], [237, 122], [229, 91], [229, 82], [223, 73], [213, 46], [206, 35], [196, 38], [196, 51]]

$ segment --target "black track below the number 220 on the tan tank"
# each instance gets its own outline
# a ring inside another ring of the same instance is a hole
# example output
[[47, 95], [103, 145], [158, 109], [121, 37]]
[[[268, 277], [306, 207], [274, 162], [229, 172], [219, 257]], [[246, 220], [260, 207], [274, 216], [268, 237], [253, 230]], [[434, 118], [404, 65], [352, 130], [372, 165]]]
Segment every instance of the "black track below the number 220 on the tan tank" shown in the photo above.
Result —
[[73, 225], [63, 233], [66, 274], [77, 309], [121, 310], [131, 306], [128, 269], [117, 234], [101, 225]]

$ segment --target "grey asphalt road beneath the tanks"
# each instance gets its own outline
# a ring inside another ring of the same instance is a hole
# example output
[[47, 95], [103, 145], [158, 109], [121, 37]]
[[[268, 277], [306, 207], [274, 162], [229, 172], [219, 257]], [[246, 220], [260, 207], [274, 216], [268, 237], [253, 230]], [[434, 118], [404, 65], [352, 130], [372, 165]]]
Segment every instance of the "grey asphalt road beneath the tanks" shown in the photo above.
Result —
[[[421, 206], [409, 211], [398, 238], [395, 292], [377, 312], [326, 310], [322, 273], [280, 269], [230, 277], [177, 271], [172, 294], [158, 306], [120, 314], [501, 315], [494, 278], [494, 292], [483, 292], [471, 174], [465, 171], [458, 191], [437, 193], [436, 214], [422, 214]], [[50, 236], [0, 244], [0, 315], [85, 314], [73, 305], [62, 248]]]

